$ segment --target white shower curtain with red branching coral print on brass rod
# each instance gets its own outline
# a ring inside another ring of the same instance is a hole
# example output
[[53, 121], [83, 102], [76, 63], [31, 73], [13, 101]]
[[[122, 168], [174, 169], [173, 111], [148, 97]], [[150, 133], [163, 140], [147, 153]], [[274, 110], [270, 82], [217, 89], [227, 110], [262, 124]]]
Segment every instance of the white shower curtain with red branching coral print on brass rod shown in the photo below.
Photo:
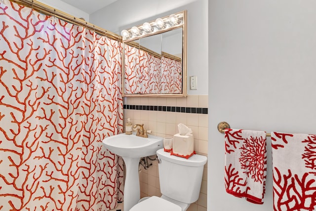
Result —
[[121, 44], [0, 0], [0, 211], [106, 211], [122, 201]]

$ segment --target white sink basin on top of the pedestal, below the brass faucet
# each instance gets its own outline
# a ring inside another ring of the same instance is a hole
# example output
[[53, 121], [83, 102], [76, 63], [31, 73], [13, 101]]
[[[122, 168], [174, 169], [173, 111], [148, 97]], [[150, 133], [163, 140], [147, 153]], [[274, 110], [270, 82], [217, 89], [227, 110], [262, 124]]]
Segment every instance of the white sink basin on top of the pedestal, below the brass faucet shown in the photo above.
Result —
[[156, 151], [163, 147], [163, 138], [148, 135], [148, 138], [136, 136], [134, 133], [121, 133], [105, 138], [102, 141], [112, 153], [121, 157], [142, 158], [156, 155]]

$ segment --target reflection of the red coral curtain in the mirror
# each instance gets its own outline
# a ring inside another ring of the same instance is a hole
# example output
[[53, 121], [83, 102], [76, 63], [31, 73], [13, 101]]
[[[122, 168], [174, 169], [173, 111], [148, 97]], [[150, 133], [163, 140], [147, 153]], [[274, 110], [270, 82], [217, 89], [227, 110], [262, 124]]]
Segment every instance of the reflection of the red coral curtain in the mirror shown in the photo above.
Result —
[[125, 94], [182, 93], [182, 62], [125, 44]]

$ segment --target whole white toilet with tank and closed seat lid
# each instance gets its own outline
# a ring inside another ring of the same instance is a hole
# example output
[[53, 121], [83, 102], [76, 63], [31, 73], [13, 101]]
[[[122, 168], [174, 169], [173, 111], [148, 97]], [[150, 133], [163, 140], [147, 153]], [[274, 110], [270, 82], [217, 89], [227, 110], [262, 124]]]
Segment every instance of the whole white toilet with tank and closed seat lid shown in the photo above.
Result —
[[163, 149], [156, 153], [162, 196], [143, 198], [130, 211], [186, 211], [199, 197], [207, 157], [193, 155], [185, 159]]

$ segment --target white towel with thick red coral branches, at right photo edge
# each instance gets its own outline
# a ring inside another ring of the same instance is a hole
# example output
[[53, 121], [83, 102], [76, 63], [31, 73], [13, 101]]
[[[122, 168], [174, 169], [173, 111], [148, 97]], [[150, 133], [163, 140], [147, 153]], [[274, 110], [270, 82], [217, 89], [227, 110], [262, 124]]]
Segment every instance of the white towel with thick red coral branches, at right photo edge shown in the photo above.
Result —
[[316, 210], [316, 135], [271, 133], [274, 211]]

